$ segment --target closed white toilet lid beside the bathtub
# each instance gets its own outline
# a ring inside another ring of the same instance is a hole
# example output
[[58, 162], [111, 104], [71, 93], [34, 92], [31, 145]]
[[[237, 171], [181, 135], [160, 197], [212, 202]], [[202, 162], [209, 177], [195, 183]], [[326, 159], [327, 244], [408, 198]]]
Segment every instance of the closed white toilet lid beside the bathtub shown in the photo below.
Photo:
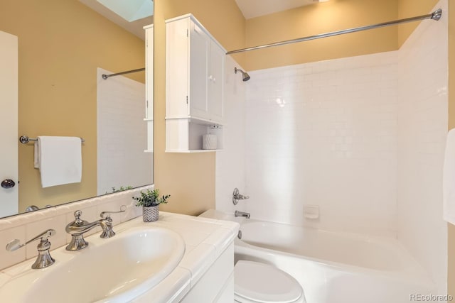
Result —
[[234, 268], [235, 294], [254, 302], [290, 303], [303, 293], [291, 275], [264, 263], [240, 260]]

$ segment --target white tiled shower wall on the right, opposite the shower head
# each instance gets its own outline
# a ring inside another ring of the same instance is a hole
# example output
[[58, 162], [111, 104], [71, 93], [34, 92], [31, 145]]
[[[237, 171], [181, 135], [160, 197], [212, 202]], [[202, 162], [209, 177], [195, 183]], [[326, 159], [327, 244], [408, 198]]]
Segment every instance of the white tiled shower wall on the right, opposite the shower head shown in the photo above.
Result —
[[441, 20], [422, 22], [400, 49], [398, 238], [446, 294], [447, 225], [442, 165], [448, 124], [447, 1]]

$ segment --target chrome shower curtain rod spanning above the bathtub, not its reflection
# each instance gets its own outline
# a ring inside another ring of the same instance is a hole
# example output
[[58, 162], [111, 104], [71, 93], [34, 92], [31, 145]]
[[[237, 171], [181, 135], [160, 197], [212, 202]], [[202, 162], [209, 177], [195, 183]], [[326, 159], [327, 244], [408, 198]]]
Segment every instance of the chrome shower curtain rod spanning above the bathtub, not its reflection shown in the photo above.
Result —
[[400, 19], [400, 20], [395, 20], [395, 21], [388, 21], [388, 22], [384, 22], [384, 23], [373, 24], [372, 26], [361, 26], [359, 28], [348, 28], [348, 29], [343, 30], [343, 31], [333, 31], [333, 32], [329, 32], [329, 33], [321, 33], [319, 35], [309, 35], [309, 36], [303, 37], [303, 38], [296, 38], [296, 39], [292, 39], [292, 40], [284, 40], [284, 41], [280, 41], [280, 42], [277, 42], [277, 43], [270, 43], [270, 44], [265, 44], [265, 45], [253, 46], [251, 48], [242, 48], [240, 50], [231, 50], [228, 53], [226, 53], [226, 55], [247, 52], [247, 51], [250, 51], [250, 50], [260, 50], [262, 48], [270, 48], [272, 46], [285, 45], [285, 44], [290, 44], [290, 43], [297, 43], [297, 42], [303, 42], [303, 41], [308, 41], [308, 40], [326, 38], [326, 37], [331, 37], [333, 35], [343, 35], [345, 33], [355, 33], [355, 32], [358, 32], [358, 31], [366, 31], [366, 30], [370, 30], [370, 29], [373, 29], [373, 28], [382, 28], [382, 27], [385, 27], [385, 26], [393, 26], [395, 24], [407, 23], [407, 22], [413, 22], [413, 21], [420, 21], [420, 20], [424, 20], [424, 19], [433, 19], [433, 20], [438, 21], [441, 18], [441, 14], [442, 14], [441, 9], [437, 9], [433, 13], [429, 13], [427, 15], [411, 17], [411, 18], [405, 18], [405, 19]]

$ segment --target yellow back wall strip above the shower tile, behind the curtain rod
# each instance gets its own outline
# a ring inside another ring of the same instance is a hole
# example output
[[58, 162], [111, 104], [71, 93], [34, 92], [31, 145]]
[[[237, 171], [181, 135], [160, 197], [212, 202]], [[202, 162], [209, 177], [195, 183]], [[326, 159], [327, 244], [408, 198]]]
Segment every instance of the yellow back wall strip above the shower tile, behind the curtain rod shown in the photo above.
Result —
[[[248, 47], [397, 19], [396, 0], [331, 0], [247, 20]], [[397, 28], [362, 31], [246, 53], [246, 69], [397, 50]]]

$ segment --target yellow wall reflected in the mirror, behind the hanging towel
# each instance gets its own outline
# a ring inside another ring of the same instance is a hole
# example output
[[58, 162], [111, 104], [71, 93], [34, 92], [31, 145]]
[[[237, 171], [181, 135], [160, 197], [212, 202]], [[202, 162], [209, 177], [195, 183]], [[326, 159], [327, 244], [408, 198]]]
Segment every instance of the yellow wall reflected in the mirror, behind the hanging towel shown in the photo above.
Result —
[[86, 139], [82, 182], [45, 189], [33, 144], [19, 144], [19, 210], [95, 196], [96, 69], [144, 67], [144, 41], [77, 0], [2, 1], [0, 31], [18, 36], [19, 135]]

